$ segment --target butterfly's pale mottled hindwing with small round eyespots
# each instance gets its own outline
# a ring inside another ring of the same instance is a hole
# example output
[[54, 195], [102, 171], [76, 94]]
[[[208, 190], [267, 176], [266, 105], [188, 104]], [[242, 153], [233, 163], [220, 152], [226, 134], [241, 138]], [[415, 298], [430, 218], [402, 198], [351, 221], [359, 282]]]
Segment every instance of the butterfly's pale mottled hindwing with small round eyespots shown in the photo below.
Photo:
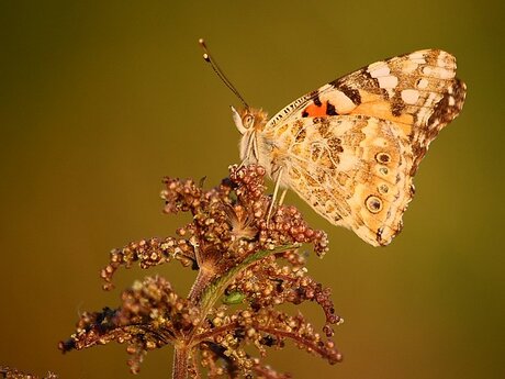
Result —
[[[385, 245], [401, 230], [412, 198], [412, 152], [386, 120], [310, 118], [285, 160], [290, 187], [321, 215]], [[302, 137], [301, 137], [302, 136]]]

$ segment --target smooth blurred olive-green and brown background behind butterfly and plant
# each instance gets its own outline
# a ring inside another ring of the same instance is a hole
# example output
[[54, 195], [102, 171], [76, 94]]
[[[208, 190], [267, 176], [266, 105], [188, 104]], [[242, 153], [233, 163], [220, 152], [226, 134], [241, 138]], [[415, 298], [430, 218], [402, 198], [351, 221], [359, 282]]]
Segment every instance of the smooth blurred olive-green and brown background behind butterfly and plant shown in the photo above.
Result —
[[[178, 264], [122, 270], [112, 292], [99, 270], [111, 248], [188, 222], [161, 214], [162, 176], [214, 186], [238, 161], [228, 105], [239, 103], [203, 63], [203, 36], [270, 114], [384, 57], [458, 57], [467, 103], [431, 145], [391, 246], [372, 248], [288, 196], [329, 233], [310, 272], [334, 289], [345, 360], [289, 348], [269, 363], [296, 378], [505, 378], [503, 14], [500, 1], [2, 1], [0, 364], [130, 378], [124, 346], [63, 356], [58, 341], [135, 278], [158, 272], [188, 291], [194, 272]], [[170, 369], [165, 348], [138, 378]]]

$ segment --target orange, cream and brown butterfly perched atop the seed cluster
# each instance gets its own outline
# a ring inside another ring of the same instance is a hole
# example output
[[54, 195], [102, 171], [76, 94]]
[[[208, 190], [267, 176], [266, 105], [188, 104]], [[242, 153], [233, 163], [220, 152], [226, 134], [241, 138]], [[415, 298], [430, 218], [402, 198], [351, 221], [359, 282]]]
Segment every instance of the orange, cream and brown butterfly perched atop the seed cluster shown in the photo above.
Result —
[[[461, 111], [456, 58], [424, 49], [368, 65], [268, 119], [233, 110], [243, 164], [259, 164], [332, 224], [384, 246], [402, 230], [429, 143]], [[281, 197], [281, 201], [283, 196]]]

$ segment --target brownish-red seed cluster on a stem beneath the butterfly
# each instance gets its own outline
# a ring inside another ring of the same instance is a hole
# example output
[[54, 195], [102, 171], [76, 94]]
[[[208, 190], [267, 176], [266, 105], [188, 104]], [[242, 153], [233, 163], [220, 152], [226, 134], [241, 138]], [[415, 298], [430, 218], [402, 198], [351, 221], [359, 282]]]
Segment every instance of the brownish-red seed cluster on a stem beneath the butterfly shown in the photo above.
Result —
[[[125, 343], [137, 372], [145, 354], [170, 344], [173, 378], [287, 378], [262, 364], [267, 348], [292, 341], [335, 364], [341, 359], [330, 339], [335, 314], [330, 291], [306, 275], [302, 244], [322, 256], [327, 237], [311, 228], [293, 207], [274, 207], [265, 194], [265, 169], [232, 166], [229, 178], [211, 190], [192, 180], [165, 178], [165, 212], [190, 212], [192, 222], [177, 236], [131, 243], [111, 252], [102, 270], [105, 289], [120, 267], [142, 268], [179, 260], [198, 270], [188, 297], [161, 278], [146, 278], [124, 291], [117, 309], [83, 313], [63, 352], [111, 341]], [[323, 335], [302, 314], [278, 310], [283, 303], [316, 302], [324, 311]], [[252, 357], [246, 346], [258, 349]]]

